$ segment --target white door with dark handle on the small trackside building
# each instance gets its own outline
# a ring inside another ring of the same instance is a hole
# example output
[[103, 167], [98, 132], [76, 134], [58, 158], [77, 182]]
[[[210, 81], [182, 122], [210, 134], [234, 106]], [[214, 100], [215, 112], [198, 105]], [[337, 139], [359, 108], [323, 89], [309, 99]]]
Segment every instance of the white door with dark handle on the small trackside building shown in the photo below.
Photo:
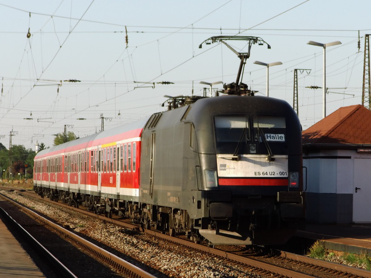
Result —
[[353, 222], [371, 222], [370, 159], [354, 159]]

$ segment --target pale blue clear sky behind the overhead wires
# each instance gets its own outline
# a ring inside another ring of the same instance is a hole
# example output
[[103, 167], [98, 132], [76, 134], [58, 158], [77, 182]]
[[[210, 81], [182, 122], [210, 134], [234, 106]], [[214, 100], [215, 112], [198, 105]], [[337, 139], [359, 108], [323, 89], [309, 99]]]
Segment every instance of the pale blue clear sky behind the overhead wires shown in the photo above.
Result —
[[[220, 43], [198, 46], [239, 33], [272, 47], [253, 45], [245, 66], [243, 82], [257, 95], [266, 95], [266, 67], [256, 60], [282, 62], [269, 68], [269, 97], [290, 105], [294, 69], [311, 70], [298, 73], [306, 129], [322, 119], [322, 89], [305, 87], [322, 87], [323, 69], [322, 47], [307, 42], [342, 43], [326, 48], [326, 87], [336, 88], [327, 115], [361, 104], [370, 8], [368, 0], [0, 0], [0, 142], [9, 147], [13, 130], [13, 145], [52, 146], [65, 125], [91, 135], [101, 115], [106, 130], [164, 111], [164, 95], [191, 95], [192, 86], [202, 95], [200, 81], [231, 83], [236, 54]], [[247, 51], [246, 42], [228, 43]]]

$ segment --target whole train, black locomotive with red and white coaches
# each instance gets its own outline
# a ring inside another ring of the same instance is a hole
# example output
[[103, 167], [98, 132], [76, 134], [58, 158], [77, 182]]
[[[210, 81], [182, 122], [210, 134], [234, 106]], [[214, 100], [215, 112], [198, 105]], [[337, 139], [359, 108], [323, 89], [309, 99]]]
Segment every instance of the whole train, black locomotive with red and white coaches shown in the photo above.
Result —
[[285, 244], [305, 220], [301, 124], [253, 94], [168, 109], [38, 152], [35, 192], [194, 242]]

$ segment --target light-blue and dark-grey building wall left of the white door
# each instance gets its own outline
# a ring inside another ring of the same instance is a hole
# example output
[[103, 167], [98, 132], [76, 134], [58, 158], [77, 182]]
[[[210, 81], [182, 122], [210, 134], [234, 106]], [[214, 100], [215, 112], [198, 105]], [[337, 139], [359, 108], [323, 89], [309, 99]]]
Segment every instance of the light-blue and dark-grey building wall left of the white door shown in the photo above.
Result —
[[354, 157], [359, 155], [365, 154], [358, 154], [355, 150], [320, 150], [303, 155], [303, 166], [308, 169], [306, 190], [308, 222], [334, 224], [353, 222], [353, 165]]

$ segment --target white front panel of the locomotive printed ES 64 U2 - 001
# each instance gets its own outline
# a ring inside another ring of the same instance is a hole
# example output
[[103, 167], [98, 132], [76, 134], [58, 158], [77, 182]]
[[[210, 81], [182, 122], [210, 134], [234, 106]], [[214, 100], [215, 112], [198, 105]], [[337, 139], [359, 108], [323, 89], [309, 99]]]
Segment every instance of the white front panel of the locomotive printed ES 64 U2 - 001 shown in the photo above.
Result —
[[240, 155], [232, 160], [231, 155], [217, 155], [219, 177], [285, 178], [288, 177], [288, 156], [274, 156], [268, 161], [266, 155]]

